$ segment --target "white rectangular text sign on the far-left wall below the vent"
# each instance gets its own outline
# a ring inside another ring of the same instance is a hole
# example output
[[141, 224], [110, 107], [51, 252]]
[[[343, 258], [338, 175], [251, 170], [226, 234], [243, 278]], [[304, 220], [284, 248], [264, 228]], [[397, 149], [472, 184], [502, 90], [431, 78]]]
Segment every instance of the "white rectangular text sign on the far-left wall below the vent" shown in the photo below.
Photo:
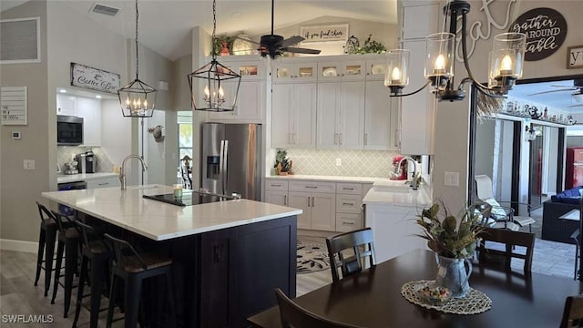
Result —
[[27, 87], [0, 87], [2, 125], [27, 125]]

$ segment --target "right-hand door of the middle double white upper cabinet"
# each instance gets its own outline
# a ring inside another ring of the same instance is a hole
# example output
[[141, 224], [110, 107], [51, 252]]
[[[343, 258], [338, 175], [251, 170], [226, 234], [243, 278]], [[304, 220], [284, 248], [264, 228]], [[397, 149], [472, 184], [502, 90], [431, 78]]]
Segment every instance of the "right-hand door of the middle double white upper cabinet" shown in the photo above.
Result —
[[341, 149], [363, 149], [364, 81], [343, 82], [340, 93], [338, 143]]

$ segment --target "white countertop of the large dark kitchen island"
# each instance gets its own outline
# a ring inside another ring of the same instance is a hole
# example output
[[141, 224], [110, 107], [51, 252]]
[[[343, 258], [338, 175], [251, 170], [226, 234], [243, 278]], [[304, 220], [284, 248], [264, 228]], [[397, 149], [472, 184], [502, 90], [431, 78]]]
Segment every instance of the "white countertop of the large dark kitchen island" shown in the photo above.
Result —
[[274, 220], [302, 210], [254, 200], [226, 200], [180, 207], [143, 195], [172, 193], [161, 185], [46, 191], [42, 196], [155, 241]]

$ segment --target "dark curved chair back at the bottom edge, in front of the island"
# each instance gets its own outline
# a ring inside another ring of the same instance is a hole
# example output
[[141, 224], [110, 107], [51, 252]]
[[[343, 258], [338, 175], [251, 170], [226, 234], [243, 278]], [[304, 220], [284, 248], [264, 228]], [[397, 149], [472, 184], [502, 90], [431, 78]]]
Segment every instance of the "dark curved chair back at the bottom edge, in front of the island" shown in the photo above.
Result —
[[275, 289], [280, 307], [281, 327], [283, 328], [360, 328], [348, 323], [338, 323], [311, 313], [293, 302], [281, 289]]

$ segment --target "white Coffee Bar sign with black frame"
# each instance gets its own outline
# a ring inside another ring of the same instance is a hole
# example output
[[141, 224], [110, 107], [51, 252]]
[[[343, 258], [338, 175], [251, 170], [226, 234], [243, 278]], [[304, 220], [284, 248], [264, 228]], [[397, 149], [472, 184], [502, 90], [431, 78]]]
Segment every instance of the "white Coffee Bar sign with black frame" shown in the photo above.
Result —
[[117, 94], [119, 74], [71, 63], [71, 86]]

